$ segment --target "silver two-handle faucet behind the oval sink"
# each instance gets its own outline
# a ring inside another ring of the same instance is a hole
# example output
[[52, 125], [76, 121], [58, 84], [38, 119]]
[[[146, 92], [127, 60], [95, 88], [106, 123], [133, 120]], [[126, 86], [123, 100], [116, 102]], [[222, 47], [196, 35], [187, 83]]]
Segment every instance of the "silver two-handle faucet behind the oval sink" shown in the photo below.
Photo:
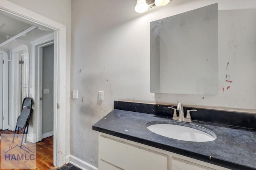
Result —
[[187, 110], [187, 115], [186, 115], [186, 118], [185, 118], [184, 117], [184, 109], [183, 109], [183, 106], [180, 102], [177, 105], [177, 111], [179, 111], [179, 117], [177, 117], [175, 108], [173, 108], [173, 107], [168, 107], [168, 108], [174, 109], [174, 114], [173, 114], [172, 119], [178, 120], [178, 121], [181, 121], [181, 122], [191, 122], [190, 111], [197, 111], [196, 109]]

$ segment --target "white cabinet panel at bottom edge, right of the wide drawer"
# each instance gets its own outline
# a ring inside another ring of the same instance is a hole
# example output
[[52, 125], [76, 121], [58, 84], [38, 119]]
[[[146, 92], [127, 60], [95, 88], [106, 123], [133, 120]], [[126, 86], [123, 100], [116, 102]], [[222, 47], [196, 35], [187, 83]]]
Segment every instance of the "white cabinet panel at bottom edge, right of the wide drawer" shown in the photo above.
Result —
[[214, 170], [206, 166], [172, 157], [172, 170]]

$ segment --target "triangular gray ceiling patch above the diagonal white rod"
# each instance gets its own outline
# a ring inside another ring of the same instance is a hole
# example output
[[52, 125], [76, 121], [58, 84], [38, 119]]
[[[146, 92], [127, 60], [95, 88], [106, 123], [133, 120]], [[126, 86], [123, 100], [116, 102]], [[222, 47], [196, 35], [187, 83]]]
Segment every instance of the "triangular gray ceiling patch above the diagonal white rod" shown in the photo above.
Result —
[[10, 16], [0, 14], [0, 43], [7, 40], [6, 35], [12, 38], [31, 26]]

